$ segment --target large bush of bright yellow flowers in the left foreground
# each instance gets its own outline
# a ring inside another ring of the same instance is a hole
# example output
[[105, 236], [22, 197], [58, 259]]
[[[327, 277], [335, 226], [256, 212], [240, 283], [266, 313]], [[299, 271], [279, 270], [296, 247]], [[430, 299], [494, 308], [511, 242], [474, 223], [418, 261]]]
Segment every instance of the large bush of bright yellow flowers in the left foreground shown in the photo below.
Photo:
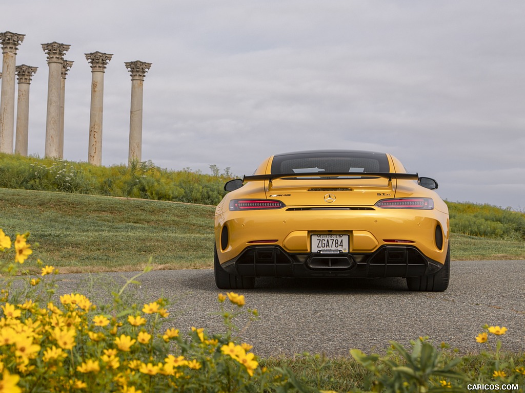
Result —
[[257, 319], [257, 310], [243, 308], [244, 296], [218, 295], [225, 333], [164, 329], [167, 299], [131, 307], [121, 300], [140, 274], [100, 307], [81, 293], [57, 294], [49, 280], [54, 267], [38, 260], [39, 277], [20, 270], [32, 253], [28, 237], [18, 234], [12, 242], [0, 230], [0, 252], [14, 253], [2, 269], [0, 393], [306, 391], [288, 370], [259, 367], [251, 346], [238, 342], [234, 319]]

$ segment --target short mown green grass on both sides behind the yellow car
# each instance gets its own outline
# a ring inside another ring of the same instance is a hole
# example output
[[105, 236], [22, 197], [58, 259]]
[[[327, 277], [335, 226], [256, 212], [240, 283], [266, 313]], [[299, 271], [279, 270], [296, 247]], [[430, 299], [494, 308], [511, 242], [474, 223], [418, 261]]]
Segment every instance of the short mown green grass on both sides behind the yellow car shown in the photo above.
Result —
[[[213, 266], [214, 206], [0, 189], [2, 228], [30, 232], [37, 256], [62, 272]], [[525, 242], [451, 235], [455, 260], [525, 259]]]

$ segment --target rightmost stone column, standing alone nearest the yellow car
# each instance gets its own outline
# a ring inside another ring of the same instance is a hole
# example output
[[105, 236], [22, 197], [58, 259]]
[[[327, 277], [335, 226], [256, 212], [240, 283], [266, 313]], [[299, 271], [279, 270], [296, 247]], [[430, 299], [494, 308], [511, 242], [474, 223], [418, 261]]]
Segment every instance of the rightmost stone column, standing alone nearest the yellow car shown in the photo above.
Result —
[[151, 63], [130, 61], [124, 63], [131, 72], [130, 146], [128, 163], [142, 160], [142, 96], [144, 77]]

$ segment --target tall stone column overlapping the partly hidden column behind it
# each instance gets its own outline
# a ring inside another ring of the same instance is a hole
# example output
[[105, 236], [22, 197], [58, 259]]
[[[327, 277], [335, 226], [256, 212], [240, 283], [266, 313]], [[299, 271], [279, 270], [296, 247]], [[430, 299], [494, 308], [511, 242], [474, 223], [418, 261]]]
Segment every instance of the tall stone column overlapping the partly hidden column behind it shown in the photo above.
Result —
[[62, 62], [64, 54], [70, 45], [64, 43], [43, 43], [42, 49], [47, 54], [49, 65], [49, 80], [47, 88], [47, 119], [46, 119], [46, 149], [45, 156], [59, 158], [60, 136], [60, 86]]

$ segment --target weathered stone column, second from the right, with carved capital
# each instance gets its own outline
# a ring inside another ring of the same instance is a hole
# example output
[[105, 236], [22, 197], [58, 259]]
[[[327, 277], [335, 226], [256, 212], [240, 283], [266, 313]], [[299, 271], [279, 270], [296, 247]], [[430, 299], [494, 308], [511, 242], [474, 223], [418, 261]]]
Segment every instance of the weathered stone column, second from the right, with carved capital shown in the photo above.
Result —
[[91, 111], [89, 114], [88, 162], [102, 164], [102, 107], [104, 98], [104, 71], [112, 54], [86, 53], [91, 67]]

